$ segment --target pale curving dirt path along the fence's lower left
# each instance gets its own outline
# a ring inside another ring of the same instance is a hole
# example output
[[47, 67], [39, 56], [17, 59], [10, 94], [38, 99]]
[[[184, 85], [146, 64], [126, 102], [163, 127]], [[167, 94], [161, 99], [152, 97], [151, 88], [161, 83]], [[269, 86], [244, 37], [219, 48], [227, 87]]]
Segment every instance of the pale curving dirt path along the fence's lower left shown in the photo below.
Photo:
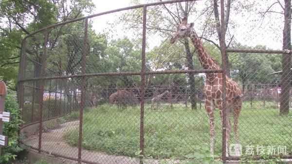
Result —
[[[42, 133], [42, 142], [41, 142], [41, 149], [44, 151], [48, 151], [50, 153], [59, 154], [66, 157], [78, 157], [78, 148], [69, 146], [66, 141], [64, 140], [64, 135], [73, 129], [79, 127], [79, 121], [69, 121], [64, 124], [59, 125], [58, 127], [54, 128], [53, 130], [45, 131]], [[23, 140], [23, 143], [37, 148], [38, 147], [38, 135], [37, 135], [37, 126], [33, 125], [31, 127], [27, 127], [22, 131], [30, 132], [31, 134], [28, 135]], [[32, 132], [35, 131], [35, 132]], [[27, 134], [26, 134], [27, 135]], [[98, 151], [89, 151], [89, 150], [82, 150], [82, 160], [86, 160], [89, 163], [99, 163], [99, 164], [139, 164], [139, 162], [135, 158], [130, 158], [126, 156], [114, 156], [109, 155], [105, 152], [98, 152]], [[181, 163], [181, 161], [171, 161], [171, 160], [164, 160], [167, 163]], [[159, 164], [162, 161], [148, 159], [146, 160], [147, 164]]]

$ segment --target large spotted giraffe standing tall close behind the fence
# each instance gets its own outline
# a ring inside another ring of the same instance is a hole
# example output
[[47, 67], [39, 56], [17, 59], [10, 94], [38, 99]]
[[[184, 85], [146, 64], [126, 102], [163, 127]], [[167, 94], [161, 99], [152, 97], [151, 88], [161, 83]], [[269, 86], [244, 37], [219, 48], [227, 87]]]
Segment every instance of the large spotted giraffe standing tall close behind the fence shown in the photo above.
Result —
[[[190, 37], [192, 43], [197, 51], [197, 55], [201, 66], [203, 69], [220, 69], [219, 64], [210, 57], [206, 49], [203, 47], [202, 42], [198, 34], [194, 30], [194, 23], [187, 23], [186, 17], [182, 19], [182, 22], [177, 27], [176, 33], [171, 37], [170, 43], [175, 43], [180, 38]], [[206, 73], [206, 85], [203, 89], [205, 95], [205, 108], [209, 115], [210, 121], [210, 146], [211, 153], [214, 154], [215, 146], [215, 117], [214, 109], [215, 107], [219, 108], [219, 113], [222, 121], [222, 73]], [[226, 108], [232, 108], [233, 117], [234, 117], [234, 133], [237, 144], [239, 143], [237, 135], [237, 123], [238, 116], [241, 110], [241, 90], [238, 87], [238, 84], [226, 76]], [[231, 131], [231, 122], [229, 116], [226, 118], [227, 127], [226, 127], [226, 156], [229, 155], [229, 138]]]

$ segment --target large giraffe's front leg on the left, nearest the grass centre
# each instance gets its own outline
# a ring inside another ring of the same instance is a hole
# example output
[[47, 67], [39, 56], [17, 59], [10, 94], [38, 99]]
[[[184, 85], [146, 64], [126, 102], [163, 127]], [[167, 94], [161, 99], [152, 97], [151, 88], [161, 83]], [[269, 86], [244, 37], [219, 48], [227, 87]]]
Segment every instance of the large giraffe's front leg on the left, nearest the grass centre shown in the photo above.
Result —
[[215, 149], [215, 116], [214, 116], [214, 105], [212, 101], [209, 101], [205, 99], [205, 108], [209, 115], [209, 121], [210, 121], [210, 151], [211, 154], [214, 155], [214, 149]]

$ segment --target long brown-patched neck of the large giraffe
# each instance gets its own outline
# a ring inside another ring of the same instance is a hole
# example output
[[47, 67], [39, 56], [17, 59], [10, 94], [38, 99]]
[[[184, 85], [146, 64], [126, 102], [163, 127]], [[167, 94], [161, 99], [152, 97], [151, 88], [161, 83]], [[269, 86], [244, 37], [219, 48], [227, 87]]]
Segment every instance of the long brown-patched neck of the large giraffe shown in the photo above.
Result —
[[[201, 66], [204, 69], [220, 69], [220, 66], [218, 66], [209, 56], [208, 52], [206, 51], [201, 42], [201, 39], [199, 38], [198, 34], [195, 32], [194, 29], [190, 32], [190, 38], [197, 51]], [[214, 82], [214, 80], [217, 78], [217, 75], [218, 73], [206, 73], [207, 81], [211, 83]]]

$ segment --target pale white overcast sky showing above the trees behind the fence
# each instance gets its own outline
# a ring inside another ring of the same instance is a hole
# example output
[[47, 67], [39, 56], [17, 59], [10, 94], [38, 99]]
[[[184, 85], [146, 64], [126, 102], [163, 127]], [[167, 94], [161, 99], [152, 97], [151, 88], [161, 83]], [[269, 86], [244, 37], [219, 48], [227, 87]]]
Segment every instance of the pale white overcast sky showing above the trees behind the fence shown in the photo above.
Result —
[[[97, 14], [97, 13], [133, 5], [131, 4], [131, 0], [110, 0], [110, 2], [107, 0], [92, 0], [92, 1], [94, 2], [96, 9], [92, 11], [91, 14]], [[140, 0], [140, 1], [142, 3], [146, 2], [146, 0]], [[200, 2], [203, 2], [203, 1], [204, 0], [201, 0]], [[264, 11], [271, 4], [273, 4], [274, 1], [275, 0], [262, 0], [263, 3], [261, 3], [260, 6], [257, 6], [257, 8], [258, 9], [262, 8], [262, 10]], [[200, 4], [198, 4], [196, 7], [197, 8], [200, 7], [199, 5]], [[273, 11], [281, 11], [281, 8], [279, 5], [274, 5], [271, 9], [273, 9]], [[91, 19], [91, 21], [93, 22], [92, 28], [97, 33], [103, 33], [105, 31], [109, 31], [110, 26], [107, 25], [107, 22], [113, 23], [114, 20], [120, 16], [120, 14], [121, 12], [94, 17]], [[279, 19], [278, 15], [274, 15], [274, 17], [273, 16], [271, 17], [269, 14], [266, 14], [265, 19], [263, 21], [259, 21], [259, 20], [256, 21], [256, 19], [259, 19], [259, 16], [260, 15], [258, 13], [249, 13], [249, 11], [246, 11], [243, 13], [231, 13], [231, 21], [237, 22], [238, 26], [235, 27], [236, 30], [234, 30], [234, 32], [231, 33], [230, 36], [234, 34], [235, 35], [234, 39], [237, 42], [243, 43], [248, 46], [256, 46], [258, 44], [261, 44], [261, 45], [266, 45], [267, 47], [272, 48], [272, 49], [281, 49], [282, 48], [281, 34], [282, 34], [283, 21]], [[191, 16], [191, 17], [196, 17], [196, 16]], [[273, 29], [276, 29], [277, 32], [276, 33], [272, 32]], [[123, 37], [123, 36], [127, 36], [129, 38], [132, 37], [132, 34], [130, 32], [122, 30], [122, 25], [117, 24], [114, 27], [114, 30], [116, 31], [115, 32], [116, 36], [113, 38]], [[229, 33], [227, 33], [227, 35], [228, 34]], [[161, 40], [159, 39], [154, 40], [153, 36], [152, 38], [148, 38], [148, 40], [151, 41], [150, 47], [157, 46], [161, 43]], [[214, 38], [212, 40], [214, 40]]]

